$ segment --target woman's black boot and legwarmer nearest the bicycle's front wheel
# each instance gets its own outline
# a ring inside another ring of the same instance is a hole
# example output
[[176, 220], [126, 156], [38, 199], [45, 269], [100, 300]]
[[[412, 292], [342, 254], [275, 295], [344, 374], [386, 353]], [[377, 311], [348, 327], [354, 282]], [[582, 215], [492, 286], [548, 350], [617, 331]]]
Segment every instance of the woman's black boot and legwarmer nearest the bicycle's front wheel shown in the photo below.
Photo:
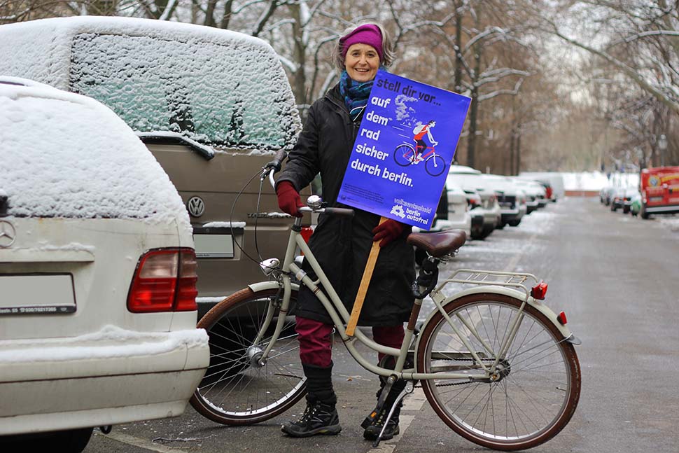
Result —
[[333, 435], [342, 431], [335, 404], [337, 396], [332, 389], [332, 364], [328, 368], [304, 365], [307, 377], [307, 408], [297, 421], [286, 421], [281, 431], [296, 438], [311, 435]]

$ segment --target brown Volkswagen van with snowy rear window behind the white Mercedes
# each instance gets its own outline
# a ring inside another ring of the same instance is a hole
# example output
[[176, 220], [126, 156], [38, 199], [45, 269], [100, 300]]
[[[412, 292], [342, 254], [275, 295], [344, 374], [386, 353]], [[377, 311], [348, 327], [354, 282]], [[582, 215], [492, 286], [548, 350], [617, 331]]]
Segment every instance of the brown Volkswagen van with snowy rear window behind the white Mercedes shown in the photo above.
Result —
[[200, 314], [261, 279], [258, 256], [283, 255], [291, 220], [276, 215], [269, 184], [258, 197], [251, 178], [292, 148], [301, 123], [268, 43], [200, 25], [80, 16], [1, 25], [0, 54], [0, 74], [93, 97], [144, 141], [190, 215]]

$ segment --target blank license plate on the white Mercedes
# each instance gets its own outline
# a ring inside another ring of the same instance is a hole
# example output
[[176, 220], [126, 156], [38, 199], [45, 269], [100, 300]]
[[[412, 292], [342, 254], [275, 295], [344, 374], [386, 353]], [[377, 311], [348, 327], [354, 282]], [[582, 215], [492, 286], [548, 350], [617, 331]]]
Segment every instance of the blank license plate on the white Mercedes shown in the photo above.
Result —
[[76, 311], [71, 274], [0, 276], [0, 314], [60, 314]]

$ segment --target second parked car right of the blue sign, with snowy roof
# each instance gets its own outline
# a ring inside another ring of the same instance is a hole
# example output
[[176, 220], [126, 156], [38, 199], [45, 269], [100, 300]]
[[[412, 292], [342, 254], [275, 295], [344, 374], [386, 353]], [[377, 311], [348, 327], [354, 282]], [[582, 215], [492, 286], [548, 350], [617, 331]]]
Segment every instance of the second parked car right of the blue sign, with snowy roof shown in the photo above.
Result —
[[[495, 193], [495, 190], [489, 187], [481, 172], [465, 165], [451, 165], [448, 172], [448, 179], [459, 183], [465, 193], [477, 193], [481, 197], [481, 206], [473, 206], [470, 209], [472, 214], [472, 239], [484, 239], [500, 225], [501, 214], [500, 204]], [[480, 230], [478, 228], [478, 220], [482, 218], [482, 225]]]

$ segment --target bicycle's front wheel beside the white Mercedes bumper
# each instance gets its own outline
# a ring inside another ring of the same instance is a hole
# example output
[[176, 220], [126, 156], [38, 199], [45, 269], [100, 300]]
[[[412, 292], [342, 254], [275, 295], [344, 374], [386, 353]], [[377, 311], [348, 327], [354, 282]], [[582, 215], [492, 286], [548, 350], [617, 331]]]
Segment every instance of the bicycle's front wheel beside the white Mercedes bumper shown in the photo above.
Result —
[[[215, 305], [197, 324], [209, 336], [210, 365], [190, 403], [204, 417], [228, 425], [255, 424], [285, 412], [307, 393], [294, 316], [286, 319], [265, 365], [256, 365], [248, 356], [268, 302], [278, 295], [275, 288], [242, 289]], [[297, 291], [293, 291], [290, 307], [296, 301]], [[256, 345], [261, 350], [276, 319]]]

